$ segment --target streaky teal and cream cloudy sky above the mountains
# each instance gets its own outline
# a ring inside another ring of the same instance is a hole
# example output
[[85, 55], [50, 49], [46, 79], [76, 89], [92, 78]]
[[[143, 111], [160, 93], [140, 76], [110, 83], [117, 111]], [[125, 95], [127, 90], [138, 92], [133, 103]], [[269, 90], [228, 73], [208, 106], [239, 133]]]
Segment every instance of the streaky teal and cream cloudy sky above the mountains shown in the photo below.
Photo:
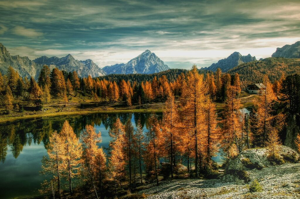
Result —
[[170, 68], [210, 66], [235, 51], [256, 59], [300, 40], [300, 1], [0, 0], [11, 55], [127, 63], [146, 49]]

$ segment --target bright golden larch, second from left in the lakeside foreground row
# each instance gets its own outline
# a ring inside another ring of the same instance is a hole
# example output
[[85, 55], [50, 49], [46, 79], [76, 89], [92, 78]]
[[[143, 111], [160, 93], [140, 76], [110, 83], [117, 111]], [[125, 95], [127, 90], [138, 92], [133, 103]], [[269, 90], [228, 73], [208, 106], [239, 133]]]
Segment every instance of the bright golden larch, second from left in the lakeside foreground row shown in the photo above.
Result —
[[73, 128], [70, 126], [67, 120], [62, 125], [59, 135], [61, 136], [61, 139], [64, 142], [64, 175], [67, 181], [69, 181], [70, 194], [72, 195], [72, 178], [78, 175], [82, 146], [79, 142], [79, 139], [76, 137]]

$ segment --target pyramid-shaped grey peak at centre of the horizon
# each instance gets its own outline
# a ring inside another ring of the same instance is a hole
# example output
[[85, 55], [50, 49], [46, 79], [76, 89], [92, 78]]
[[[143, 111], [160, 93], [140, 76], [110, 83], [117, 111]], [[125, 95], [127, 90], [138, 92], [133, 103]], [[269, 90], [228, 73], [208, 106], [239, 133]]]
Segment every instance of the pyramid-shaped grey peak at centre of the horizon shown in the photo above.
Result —
[[103, 68], [107, 74], [152, 74], [168, 69], [170, 68], [149, 50], [146, 50], [126, 64], [115, 64]]

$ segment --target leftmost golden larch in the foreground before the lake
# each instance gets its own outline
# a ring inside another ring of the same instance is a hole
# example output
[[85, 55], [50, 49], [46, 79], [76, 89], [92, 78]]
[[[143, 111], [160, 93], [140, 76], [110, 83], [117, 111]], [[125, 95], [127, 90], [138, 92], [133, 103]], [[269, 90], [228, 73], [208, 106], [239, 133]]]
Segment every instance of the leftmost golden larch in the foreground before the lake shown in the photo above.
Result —
[[[54, 131], [49, 137], [49, 144], [47, 145], [48, 157], [44, 156], [42, 159], [42, 171], [41, 174], [52, 175], [56, 181], [56, 188], [58, 198], [61, 198], [61, 177], [64, 171], [64, 159], [63, 154], [64, 141], [61, 136]], [[52, 180], [49, 181], [51, 183]]]

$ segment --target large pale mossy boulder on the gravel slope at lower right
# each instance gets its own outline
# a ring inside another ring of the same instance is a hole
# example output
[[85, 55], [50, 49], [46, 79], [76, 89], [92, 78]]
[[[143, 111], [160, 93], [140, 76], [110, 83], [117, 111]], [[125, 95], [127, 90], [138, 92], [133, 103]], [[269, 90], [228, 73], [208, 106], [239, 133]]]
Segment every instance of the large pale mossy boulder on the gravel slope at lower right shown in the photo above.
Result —
[[[270, 151], [267, 148], [248, 149], [242, 151], [234, 159], [230, 159], [227, 163], [223, 180], [236, 181], [237, 183], [244, 183], [253, 180], [251, 176], [252, 170], [261, 170], [270, 167], [278, 162], [269, 157]], [[284, 162], [298, 162], [300, 155], [284, 145], [278, 146], [277, 158], [280, 163]]]

